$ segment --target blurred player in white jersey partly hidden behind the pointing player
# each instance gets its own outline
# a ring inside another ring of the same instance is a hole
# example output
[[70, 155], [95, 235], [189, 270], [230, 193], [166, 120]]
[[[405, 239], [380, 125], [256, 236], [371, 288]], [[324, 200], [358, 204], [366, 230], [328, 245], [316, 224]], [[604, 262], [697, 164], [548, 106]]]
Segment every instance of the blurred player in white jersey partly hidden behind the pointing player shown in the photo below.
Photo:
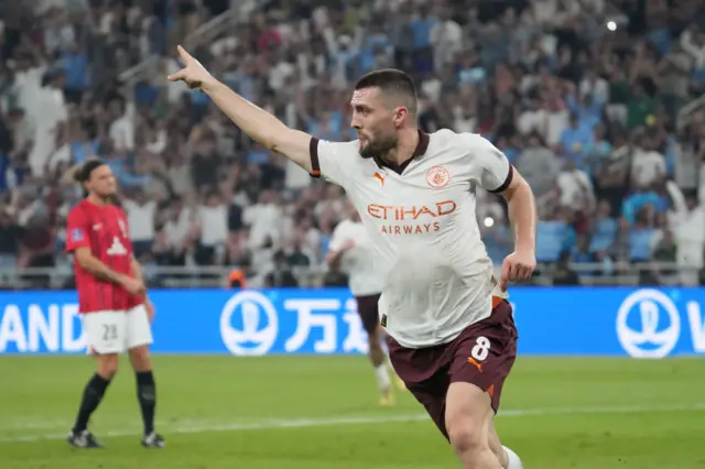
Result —
[[[382, 330], [379, 324], [379, 297], [384, 279], [375, 269], [370, 237], [362, 225], [360, 214], [347, 201], [348, 217], [336, 225], [328, 244], [327, 262], [348, 275], [350, 293], [357, 303], [357, 313], [367, 332], [369, 359], [375, 368], [382, 406], [394, 404], [392, 379], [382, 348]], [[397, 375], [394, 381], [399, 382]], [[403, 385], [400, 384], [400, 388]]]

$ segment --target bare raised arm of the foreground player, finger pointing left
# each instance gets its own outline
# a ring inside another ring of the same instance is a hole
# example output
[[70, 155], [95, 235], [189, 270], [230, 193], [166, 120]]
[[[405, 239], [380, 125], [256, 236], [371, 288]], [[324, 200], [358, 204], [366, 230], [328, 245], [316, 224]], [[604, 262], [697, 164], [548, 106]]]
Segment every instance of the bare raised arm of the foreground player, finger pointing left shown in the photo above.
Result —
[[290, 129], [271, 113], [232, 91], [214, 78], [182, 46], [178, 46], [178, 54], [185, 66], [170, 75], [170, 81], [184, 81], [192, 89], [200, 89], [252, 140], [283, 154], [314, 176], [319, 175], [312, 168], [311, 145], [315, 144], [315, 141], [312, 141], [310, 134]]

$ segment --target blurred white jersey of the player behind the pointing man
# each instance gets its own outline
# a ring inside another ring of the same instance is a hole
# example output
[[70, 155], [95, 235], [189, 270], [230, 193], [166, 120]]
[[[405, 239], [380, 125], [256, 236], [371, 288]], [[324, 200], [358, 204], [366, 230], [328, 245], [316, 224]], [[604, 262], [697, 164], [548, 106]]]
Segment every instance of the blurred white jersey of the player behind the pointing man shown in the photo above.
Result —
[[352, 220], [343, 220], [333, 230], [328, 249], [339, 251], [348, 241], [355, 246], [343, 253], [340, 270], [348, 275], [355, 296], [376, 295], [382, 291], [384, 277], [375, 269], [375, 257], [367, 228]]

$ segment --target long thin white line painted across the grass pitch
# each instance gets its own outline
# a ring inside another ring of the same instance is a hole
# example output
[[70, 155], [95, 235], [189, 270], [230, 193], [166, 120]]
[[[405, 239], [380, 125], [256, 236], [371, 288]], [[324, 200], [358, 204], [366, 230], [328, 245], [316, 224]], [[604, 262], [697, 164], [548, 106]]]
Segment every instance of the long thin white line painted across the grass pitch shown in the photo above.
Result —
[[[666, 406], [605, 406], [605, 407], [554, 407], [554, 408], [523, 408], [523, 410], [506, 410], [500, 411], [499, 417], [525, 417], [542, 415], [579, 415], [579, 414], [650, 414], [664, 412], [697, 412], [705, 411], [705, 403], [690, 405], [666, 405]], [[377, 415], [368, 417], [336, 417], [336, 418], [290, 418], [290, 419], [270, 419], [254, 423], [195, 423], [194, 425], [175, 425], [167, 427], [165, 434], [193, 434], [208, 432], [246, 432], [259, 429], [280, 429], [280, 428], [307, 428], [307, 427], [326, 427], [326, 426], [347, 426], [347, 425], [369, 425], [369, 424], [387, 424], [399, 422], [420, 422], [426, 421], [429, 416], [425, 414], [406, 414], [406, 415]], [[18, 437], [0, 437], [0, 443], [28, 443], [41, 441], [47, 439], [64, 439], [67, 432], [61, 434], [29, 435]], [[101, 433], [100, 437], [121, 437], [138, 436], [134, 430], [113, 430]]]

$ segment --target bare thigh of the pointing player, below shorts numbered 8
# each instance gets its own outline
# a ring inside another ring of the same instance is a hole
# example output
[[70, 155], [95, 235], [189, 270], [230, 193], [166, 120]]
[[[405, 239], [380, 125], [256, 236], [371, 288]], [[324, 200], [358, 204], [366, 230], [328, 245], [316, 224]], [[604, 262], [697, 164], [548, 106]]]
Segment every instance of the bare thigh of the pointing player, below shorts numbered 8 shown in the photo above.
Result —
[[454, 382], [445, 400], [445, 425], [456, 450], [489, 446], [489, 425], [494, 416], [487, 392], [475, 384]]

